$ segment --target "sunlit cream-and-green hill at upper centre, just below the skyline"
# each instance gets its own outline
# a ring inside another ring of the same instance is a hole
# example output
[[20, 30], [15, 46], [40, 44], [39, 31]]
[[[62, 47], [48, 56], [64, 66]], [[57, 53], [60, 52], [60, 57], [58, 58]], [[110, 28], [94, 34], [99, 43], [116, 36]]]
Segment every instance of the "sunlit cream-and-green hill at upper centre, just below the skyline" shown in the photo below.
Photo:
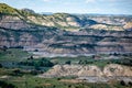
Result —
[[80, 23], [77, 21], [77, 18], [67, 13], [55, 13], [53, 15], [41, 16], [29, 15], [28, 19], [36, 24], [56, 26], [62, 30], [76, 31], [79, 30], [79, 28], [81, 26]]

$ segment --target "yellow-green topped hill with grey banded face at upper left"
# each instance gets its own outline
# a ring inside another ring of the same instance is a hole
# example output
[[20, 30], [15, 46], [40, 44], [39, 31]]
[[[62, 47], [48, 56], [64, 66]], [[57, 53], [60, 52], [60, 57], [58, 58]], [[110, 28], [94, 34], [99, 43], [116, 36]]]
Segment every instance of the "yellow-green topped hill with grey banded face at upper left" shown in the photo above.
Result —
[[29, 26], [20, 10], [0, 3], [0, 28], [20, 30]]

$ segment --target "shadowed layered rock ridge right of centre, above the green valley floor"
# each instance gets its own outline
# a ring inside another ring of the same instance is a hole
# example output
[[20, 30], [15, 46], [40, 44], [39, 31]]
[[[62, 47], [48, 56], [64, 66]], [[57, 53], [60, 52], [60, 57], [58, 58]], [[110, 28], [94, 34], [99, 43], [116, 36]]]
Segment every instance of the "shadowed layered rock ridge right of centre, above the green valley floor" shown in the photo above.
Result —
[[[84, 35], [85, 34], [85, 35]], [[125, 36], [127, 35], [127, 36]], [[34, 48], [53, 54], [96, 54], [96, 53], [128, 53], [132, 52], [131, 32], [76, 32], [44, 40]]]

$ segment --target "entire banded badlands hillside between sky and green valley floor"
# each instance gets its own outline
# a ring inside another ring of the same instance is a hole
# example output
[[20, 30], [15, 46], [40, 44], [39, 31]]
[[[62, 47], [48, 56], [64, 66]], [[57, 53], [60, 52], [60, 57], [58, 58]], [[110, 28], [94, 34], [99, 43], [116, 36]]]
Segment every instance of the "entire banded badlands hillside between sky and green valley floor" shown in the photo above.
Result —
[[132, 52], [131, 21], [131, 15], [41, 15], [0, 4], [0, 46], [50, 54], [127, 53]]

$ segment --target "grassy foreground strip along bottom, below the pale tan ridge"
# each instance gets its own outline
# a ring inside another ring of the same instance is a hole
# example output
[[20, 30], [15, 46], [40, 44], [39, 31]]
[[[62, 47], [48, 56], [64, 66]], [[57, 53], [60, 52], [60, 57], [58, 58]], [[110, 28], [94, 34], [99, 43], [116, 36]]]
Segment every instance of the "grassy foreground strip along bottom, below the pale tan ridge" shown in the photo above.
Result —
[[[131, 88], [131, 82], [127, 85], [123, 81], [112, 81], [109, 84], [62, 81], [65, 79], [68, 80], [69, 78], [38, 78], [32, 75], [23, 75], [21, 77], [10, 76], [2, 78], [0, 79], [0, 82], [8, 82], [12, 85], [13, 87], [10, 88]], [[6, 88], [1, 85], [1, 88]]]

